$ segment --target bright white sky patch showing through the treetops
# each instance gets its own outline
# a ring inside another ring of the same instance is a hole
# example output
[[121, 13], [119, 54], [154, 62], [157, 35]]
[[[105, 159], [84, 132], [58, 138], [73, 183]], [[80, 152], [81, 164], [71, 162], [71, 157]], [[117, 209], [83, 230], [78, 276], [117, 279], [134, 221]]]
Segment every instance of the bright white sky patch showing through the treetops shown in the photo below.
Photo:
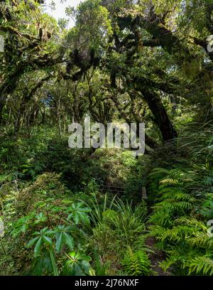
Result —
[[[50, 3], [54, 1], [55, 2], [55, 10], [51, 10], [50, 7], [48, 7], [50, 5]], [[47, 12], [48, 14], [50, 14], [51, 16], [53, 16], [54, 18], [58, 19], [58, 18], [67, 18], [66, 14], [65, 14], [65, 8], [67, 6], [77, 6], [78, 4], [80, 4], [82, 0], [67, 0], [65, 1], [64, 4], [60, 3], [60, 0], [46, 0], [45, 3], [47, 4], [47, 8], [45, 9], [45, 12]], [[74, 22], [72, 21], [72, 19], [70, 19], [70, 23], [68, 24], [68, 28], [71, 28], [72, 26], [74, 26]]]

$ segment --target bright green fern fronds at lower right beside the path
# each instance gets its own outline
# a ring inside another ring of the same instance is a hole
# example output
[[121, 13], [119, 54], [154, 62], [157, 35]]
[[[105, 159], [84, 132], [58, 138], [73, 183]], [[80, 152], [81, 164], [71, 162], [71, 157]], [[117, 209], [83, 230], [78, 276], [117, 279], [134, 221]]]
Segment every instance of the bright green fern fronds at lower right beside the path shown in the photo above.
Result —
[[183, 275], [212, 274], [213, 240], [208, 235], [207, 222], [204, 223], [205, 216], [211, 217], [212, 196], [207, 195], [205, 200], [203, 195], [199, 203], [196, 192], [192, 195], [193, 183], [197, 184], [195, 175], [177, 169], [158, 179], [159, 198], [149, 218], [152, 225], [148, 235], [155, 237], [156, 245], [167, 254], [160, 262], [165, 272], [173, 269]]

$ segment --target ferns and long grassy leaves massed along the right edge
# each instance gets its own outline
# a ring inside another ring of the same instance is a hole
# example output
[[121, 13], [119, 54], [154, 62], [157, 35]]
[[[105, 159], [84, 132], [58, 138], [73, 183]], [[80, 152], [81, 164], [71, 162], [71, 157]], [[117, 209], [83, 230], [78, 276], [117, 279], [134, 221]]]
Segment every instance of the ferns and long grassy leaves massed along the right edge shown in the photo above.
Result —
[[[202, 126], [180, 139], [177, 159], [170, 168], [155, 168], [149, 188], [155, 193], [149, 234], [166, 253], [160, 266], [181, 275], [213, 274], [213, 139], [212, 126]], [[190, 158], [189, 158], [190, 157]]]

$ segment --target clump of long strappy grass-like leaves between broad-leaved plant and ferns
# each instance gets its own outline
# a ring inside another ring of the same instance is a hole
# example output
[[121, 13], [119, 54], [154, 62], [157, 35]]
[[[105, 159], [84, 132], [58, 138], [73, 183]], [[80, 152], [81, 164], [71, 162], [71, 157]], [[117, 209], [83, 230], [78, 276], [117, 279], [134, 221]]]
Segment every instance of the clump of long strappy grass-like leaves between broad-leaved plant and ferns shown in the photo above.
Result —
[[92, 208], [90, 213], [98, 213], [91, 216], [95, 227], [89, 231], [92, 233], [89, 247], [95, 249], [94, 269], [96, 274], [116, 274], [129, 245], [136, 251], [149, 250], [145, 246], [146, 204], [134, 207], [118, 198], [107, 203], [107, 195], [100, 204], [105, 206], [100, 207], [97, 203], [96, 210]]

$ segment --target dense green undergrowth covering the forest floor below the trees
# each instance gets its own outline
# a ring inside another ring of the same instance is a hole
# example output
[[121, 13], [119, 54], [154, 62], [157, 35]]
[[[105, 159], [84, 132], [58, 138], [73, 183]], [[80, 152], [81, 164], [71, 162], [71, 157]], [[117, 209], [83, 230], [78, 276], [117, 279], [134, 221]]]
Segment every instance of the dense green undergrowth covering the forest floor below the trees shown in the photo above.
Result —
[[[139, 159], [110, 149], [90, 158], [54, 129], [0, 138], [0, 274], [158, 275], [157, 250], [165, 274], [213, 274], [211, 124]], [[103, 184], [124, 185], [124, 195]]]

